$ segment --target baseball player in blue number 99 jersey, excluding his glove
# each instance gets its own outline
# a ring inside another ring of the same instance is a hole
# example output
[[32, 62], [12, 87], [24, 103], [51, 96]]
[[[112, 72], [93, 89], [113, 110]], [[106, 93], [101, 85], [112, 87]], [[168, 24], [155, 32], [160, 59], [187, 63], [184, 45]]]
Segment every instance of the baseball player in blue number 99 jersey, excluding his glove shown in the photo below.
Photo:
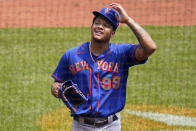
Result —
[[[51, 75], [51, 91], [57, 97], [61, 83], [71, 80], [87, 98], [71, 111], [73, 131], [120, 131], [129, 67], [144, 64], [156, 44], [118, 3], [93, 14], [91, 40], [63, 54]], [[139, 44], [110, 43], [119, 23], [133, 31]]]

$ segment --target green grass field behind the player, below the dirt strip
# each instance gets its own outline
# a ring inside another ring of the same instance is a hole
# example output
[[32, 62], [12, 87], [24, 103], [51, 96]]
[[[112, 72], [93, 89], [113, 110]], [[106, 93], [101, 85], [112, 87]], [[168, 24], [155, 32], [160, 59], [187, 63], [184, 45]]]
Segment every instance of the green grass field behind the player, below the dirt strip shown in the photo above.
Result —
[[[196, 108], [196, 26], [144, 28], [158, 49], [130, 68], [127, 103]], [[0, 29], [0, 131], [40, 130], [35, 119], [63, 106], [50, 93], [50, 74], [67, 49], [89, 39], [87, 27]], [[112, 42], [137, 40], [120, 27]]]

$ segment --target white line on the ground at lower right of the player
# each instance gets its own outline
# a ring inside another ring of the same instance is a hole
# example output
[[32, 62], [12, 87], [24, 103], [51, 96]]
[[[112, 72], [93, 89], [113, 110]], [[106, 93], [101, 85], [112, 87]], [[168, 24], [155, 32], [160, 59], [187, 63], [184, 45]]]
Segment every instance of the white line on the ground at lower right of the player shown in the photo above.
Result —
[[125, 112], [132, 114], [132, 115], [144, 117], [150, 120], [163, 122], [167, 125], [196, 127], [196, 117], [174, 115], [174, 114], [164, 114], [164, 113], [157, 113], [157, 112], [142, 112], [142, 111], [136, 111], [136, 110], [125, 110]]

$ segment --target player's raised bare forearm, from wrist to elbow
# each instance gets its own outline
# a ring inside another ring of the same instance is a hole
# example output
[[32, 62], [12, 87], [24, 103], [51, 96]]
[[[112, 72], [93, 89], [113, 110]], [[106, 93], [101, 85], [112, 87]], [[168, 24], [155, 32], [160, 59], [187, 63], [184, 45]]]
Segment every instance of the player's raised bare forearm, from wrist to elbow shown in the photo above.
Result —
[[137, 37], [145, 54], [148, 56], [152, 54], [157, 47], [152, 38], [150, 37], [150, 35], [131, 18], [127, 20], [126, 24], [130, 27], [130, 29]]

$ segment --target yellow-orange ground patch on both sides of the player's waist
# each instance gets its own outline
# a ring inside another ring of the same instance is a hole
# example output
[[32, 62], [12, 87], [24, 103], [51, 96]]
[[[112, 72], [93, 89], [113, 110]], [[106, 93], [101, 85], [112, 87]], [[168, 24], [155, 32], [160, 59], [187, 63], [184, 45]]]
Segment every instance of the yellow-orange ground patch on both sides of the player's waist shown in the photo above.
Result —
[[[188, 126], [177, 120], [177, 123], [166, 123], [167, 120], [159, 121], [154, 119], [148, 119], [145, 117], [130, 114], [127, 111], [138, 111], [138, 112], [151, 112], [151, 113], [163, 113], [164, 118], [172, 120], [171, 115], [180, 116], [183, 118], [183, 122], [186, 123], [190, 116], [192, 119], [196, 117], [196, 109], [183, 108], [175, 106], [155, 106], [155, 105], [129, 105], [127, 104], [125, 110], [121, 112], [122, 130], [123, 131], [141, 131], [141, 130], [195, 130], [196, 126]], [[59, 117], [54, 117], [59, 116]], [[150, 116], [150, 115], [147, 115]], [[161, 117], [161, 116], [159, 116]], [[60, 122], [59, 122], [60, 121]], [[194, 120], [193, 120], [194, 121]], [[191, 122], [190, 122], [191, 123]], [[51, 112], [40, 115], [35, 124], [44, 131], [69, 131], [71, 130], [72, 118], [69, 115], [69, 111], [66, 107], [57, 108]]]

